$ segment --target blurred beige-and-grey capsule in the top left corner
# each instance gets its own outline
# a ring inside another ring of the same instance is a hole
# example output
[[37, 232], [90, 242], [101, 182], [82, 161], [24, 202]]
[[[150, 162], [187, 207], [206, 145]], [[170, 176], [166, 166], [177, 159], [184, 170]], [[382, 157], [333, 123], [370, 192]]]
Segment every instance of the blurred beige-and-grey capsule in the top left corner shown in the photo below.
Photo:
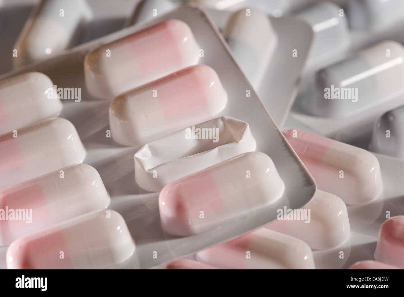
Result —
[[92, 19], [85, 0], [42, 0], [27, 21], [14, 48], [17, 67], [45, 59], [78, 42], [78, 32]]

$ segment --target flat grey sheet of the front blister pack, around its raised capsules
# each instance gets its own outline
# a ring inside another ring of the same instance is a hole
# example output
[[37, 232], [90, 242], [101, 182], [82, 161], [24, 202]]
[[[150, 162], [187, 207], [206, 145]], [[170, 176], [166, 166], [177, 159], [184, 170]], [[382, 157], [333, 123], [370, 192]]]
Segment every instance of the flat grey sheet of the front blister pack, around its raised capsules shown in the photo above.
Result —
[[[166, 19], [180, 19], [191, 27], [198, 44], [204, 49], [204, 57], [200, 59], [200, 63], [209, 65], [219, 75], [229, 99], [227, 106], [217, 117], [229, 116], [246, 121], [257, 141], [256, 150], [271, 157], [285, 184], [283, 196], [272, 205], [213, 230], [184, 238], [163, 232], [158, 211], [159, 193], [146, 192], [135, 182], [134, 154], [139, 147], [121, 146], [112, 138], [106, 137], [109, 130], [110, 100], [90, 96], [83, 73], [84, 56], [89, 50]], [[292, 52], [292, 48], [289, 50]], [[123, 264], [111, 268], [151, 268], [170, 259], [195, 253], [276, 220], [276, 210], [281, 207], [301, 208], [314, 195], [314, 180], [269, 117], [217, 29], [199, 8], [182, 6], [150, 23], [122, 29], [44, 62], [3, 75], [0, 79], [26, 71], [45, 73], [61, 88], [81, 88], [80, 102], [62, 100], [61, 117], [68, 119], [76, 127], [87, 151], [84, 163], [98, 170], [111, 196], [110, 208], [122, 214], [136, 242], [134, 255]], [[246, 97], [246, 90], [250, 90], [250, 97]], [[156, 255], [154, 252], [157, 252], [157, 258], [153, 257]], [[5, 268], [5, 253], [6, 247], [1, 247], [0, 268]]]

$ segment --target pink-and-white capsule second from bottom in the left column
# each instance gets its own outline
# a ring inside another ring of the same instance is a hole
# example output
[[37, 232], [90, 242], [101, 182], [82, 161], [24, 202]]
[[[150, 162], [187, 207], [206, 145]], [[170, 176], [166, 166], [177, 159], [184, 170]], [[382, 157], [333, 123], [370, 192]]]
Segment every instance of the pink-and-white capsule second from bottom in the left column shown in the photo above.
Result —
[[4, 215], [24, 211], [23, 218], [15, 214], [14, 220], [0, 220], [0, 245], [9, 245], [26, 234], [107, 208], [109, 195], [97, 170], [76, 164], [0, 190], [0, 205], [8, 209]]

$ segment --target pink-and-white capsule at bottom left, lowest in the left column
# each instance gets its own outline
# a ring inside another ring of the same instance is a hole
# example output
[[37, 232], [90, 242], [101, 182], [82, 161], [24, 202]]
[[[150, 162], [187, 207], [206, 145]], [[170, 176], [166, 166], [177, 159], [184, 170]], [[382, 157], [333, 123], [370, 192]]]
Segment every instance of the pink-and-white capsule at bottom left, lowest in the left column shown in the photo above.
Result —
[[120, 264], [134, 251], [124, 219], [106, 209], [20, 237], [6, 261], [8, 269], [97, 269]]

